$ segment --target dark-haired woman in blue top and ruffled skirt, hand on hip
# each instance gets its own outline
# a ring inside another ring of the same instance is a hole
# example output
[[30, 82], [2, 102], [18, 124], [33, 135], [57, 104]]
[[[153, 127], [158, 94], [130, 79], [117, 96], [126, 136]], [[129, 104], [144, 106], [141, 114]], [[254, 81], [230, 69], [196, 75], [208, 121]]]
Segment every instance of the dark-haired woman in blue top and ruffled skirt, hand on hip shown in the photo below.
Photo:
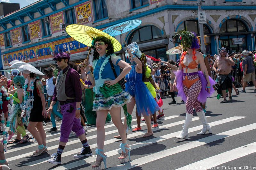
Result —
[[[113, 44], [108, 38], [99, 36], [94, 42], [93, 75], [90, 72], [87, 60], [84, 61], [84, 65], [92, 85], [95, 85], [93, 87], [93, 92], [95, 93], [93, 111], [97, 112], [96, 125], [98, 148], [95, 152], [98, 156], [96, 158], [96, 164], [92, 166], [92, 169], [96, 170], [100, 169], [102, 161], [105, 164], [105, 168], [107, 168], [107, 156], [103, 152], [103, 147], [105, 141], [104, 126], [108, 111], [110, 112], [112, 121], [122, 138], [122, 143], [120, 144], [122, 154], [118, 159], [121, 163], [127, 162], [127, 155], [129, 155], [130, 159], [131, 148], [126, 142], [126, 132], [124, 124], [121, 121], [121, 106], [129, 103], [131, 101], [131, 96], [122, 89], [121, 85], [118, 84], [118, 81], [131, 70], [131, 66], [114, 54]], [[109, 63], [110, 57], [115, 67], [116, 74], [118, 75], [117, 78], [111, 69]], [[123, 69], [121, 73], [120, 67]]]

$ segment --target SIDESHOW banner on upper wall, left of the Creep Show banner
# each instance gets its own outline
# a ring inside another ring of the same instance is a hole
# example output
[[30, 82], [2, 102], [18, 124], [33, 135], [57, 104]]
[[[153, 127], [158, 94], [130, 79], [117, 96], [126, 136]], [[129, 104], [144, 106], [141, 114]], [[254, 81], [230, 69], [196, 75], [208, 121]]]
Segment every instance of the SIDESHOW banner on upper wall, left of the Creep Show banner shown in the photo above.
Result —
[[[57, 33], [62, 30], [62, 24], [64, 24], [63, 11], [50, 16], [50, 23], [52, 33]], [[78, 24], [78, 23], [77, 23]]]

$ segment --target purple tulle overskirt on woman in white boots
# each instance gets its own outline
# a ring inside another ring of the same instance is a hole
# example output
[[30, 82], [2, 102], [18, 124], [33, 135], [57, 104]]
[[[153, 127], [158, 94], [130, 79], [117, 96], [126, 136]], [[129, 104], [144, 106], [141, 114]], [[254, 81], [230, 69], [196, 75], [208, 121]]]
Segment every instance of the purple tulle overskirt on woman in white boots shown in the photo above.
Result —
[[[181, 97], [181, 100], [184, 100], [184, 102], [187, 101], [187, 96], [184, 93], [183, 90], [183, 82], [182, 82], [182, 78], [183, 78], [183, 70], [178, 70], [176, 73], [176, 83], [177, 83], [177, 89], [178, 89], [178, 96]], [[211, 89], [210, 89], [210, 93], [208, 93], [208, 91], [206, 91], [206, 85], [207, 85], [207, 80], [204, 77], [204, 74], [202, 71], [198, 71], [198, 76], [201, 79], [202, 82], [202, 90], [199, 93], [197, 99], [198, 101], [200, 101], [201, 103], [205, 103], [207, 100], [207, 97], [211, 97], [211, 95], [214, 93], [214, 89], [213, 89], [213, 85], [217, 84], [210, 76], [209, 76], [209, 80], [211, 83]]]

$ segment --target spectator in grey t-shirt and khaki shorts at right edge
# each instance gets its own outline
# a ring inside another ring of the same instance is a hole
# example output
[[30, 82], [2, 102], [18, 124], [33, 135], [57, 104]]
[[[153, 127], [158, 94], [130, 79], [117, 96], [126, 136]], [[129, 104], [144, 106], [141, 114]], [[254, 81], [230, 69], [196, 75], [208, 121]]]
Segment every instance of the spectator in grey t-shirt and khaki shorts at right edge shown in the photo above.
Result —
[[244, 70], [244, 83], [243, 83], [243, 90], [241, 92], [245, 92], [245, 87], [247, 82], [252, 81], [253, 85], [255, 86], [254, 92], [256, 92], [256, 81], [255, 81], [255, 69], [253, 67], [253, 60], [252, 57], [248, 55], [249, 52], [244, 50], [242, 55], [244, 56], [243, 59], [243, 70]]

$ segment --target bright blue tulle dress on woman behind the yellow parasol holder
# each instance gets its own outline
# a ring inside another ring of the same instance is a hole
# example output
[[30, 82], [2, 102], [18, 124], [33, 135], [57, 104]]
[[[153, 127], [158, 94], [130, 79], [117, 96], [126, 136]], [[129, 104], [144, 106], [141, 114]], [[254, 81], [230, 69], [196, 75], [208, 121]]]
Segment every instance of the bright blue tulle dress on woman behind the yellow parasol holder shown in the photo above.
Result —
[[136, 64], [132, 64], [132, 70], [125, 76], [125, 91], [135, 98], [139, 116], [153, 115], [160, 108], [142, 81], [142, 73], [137, 73], [135, 66]]

